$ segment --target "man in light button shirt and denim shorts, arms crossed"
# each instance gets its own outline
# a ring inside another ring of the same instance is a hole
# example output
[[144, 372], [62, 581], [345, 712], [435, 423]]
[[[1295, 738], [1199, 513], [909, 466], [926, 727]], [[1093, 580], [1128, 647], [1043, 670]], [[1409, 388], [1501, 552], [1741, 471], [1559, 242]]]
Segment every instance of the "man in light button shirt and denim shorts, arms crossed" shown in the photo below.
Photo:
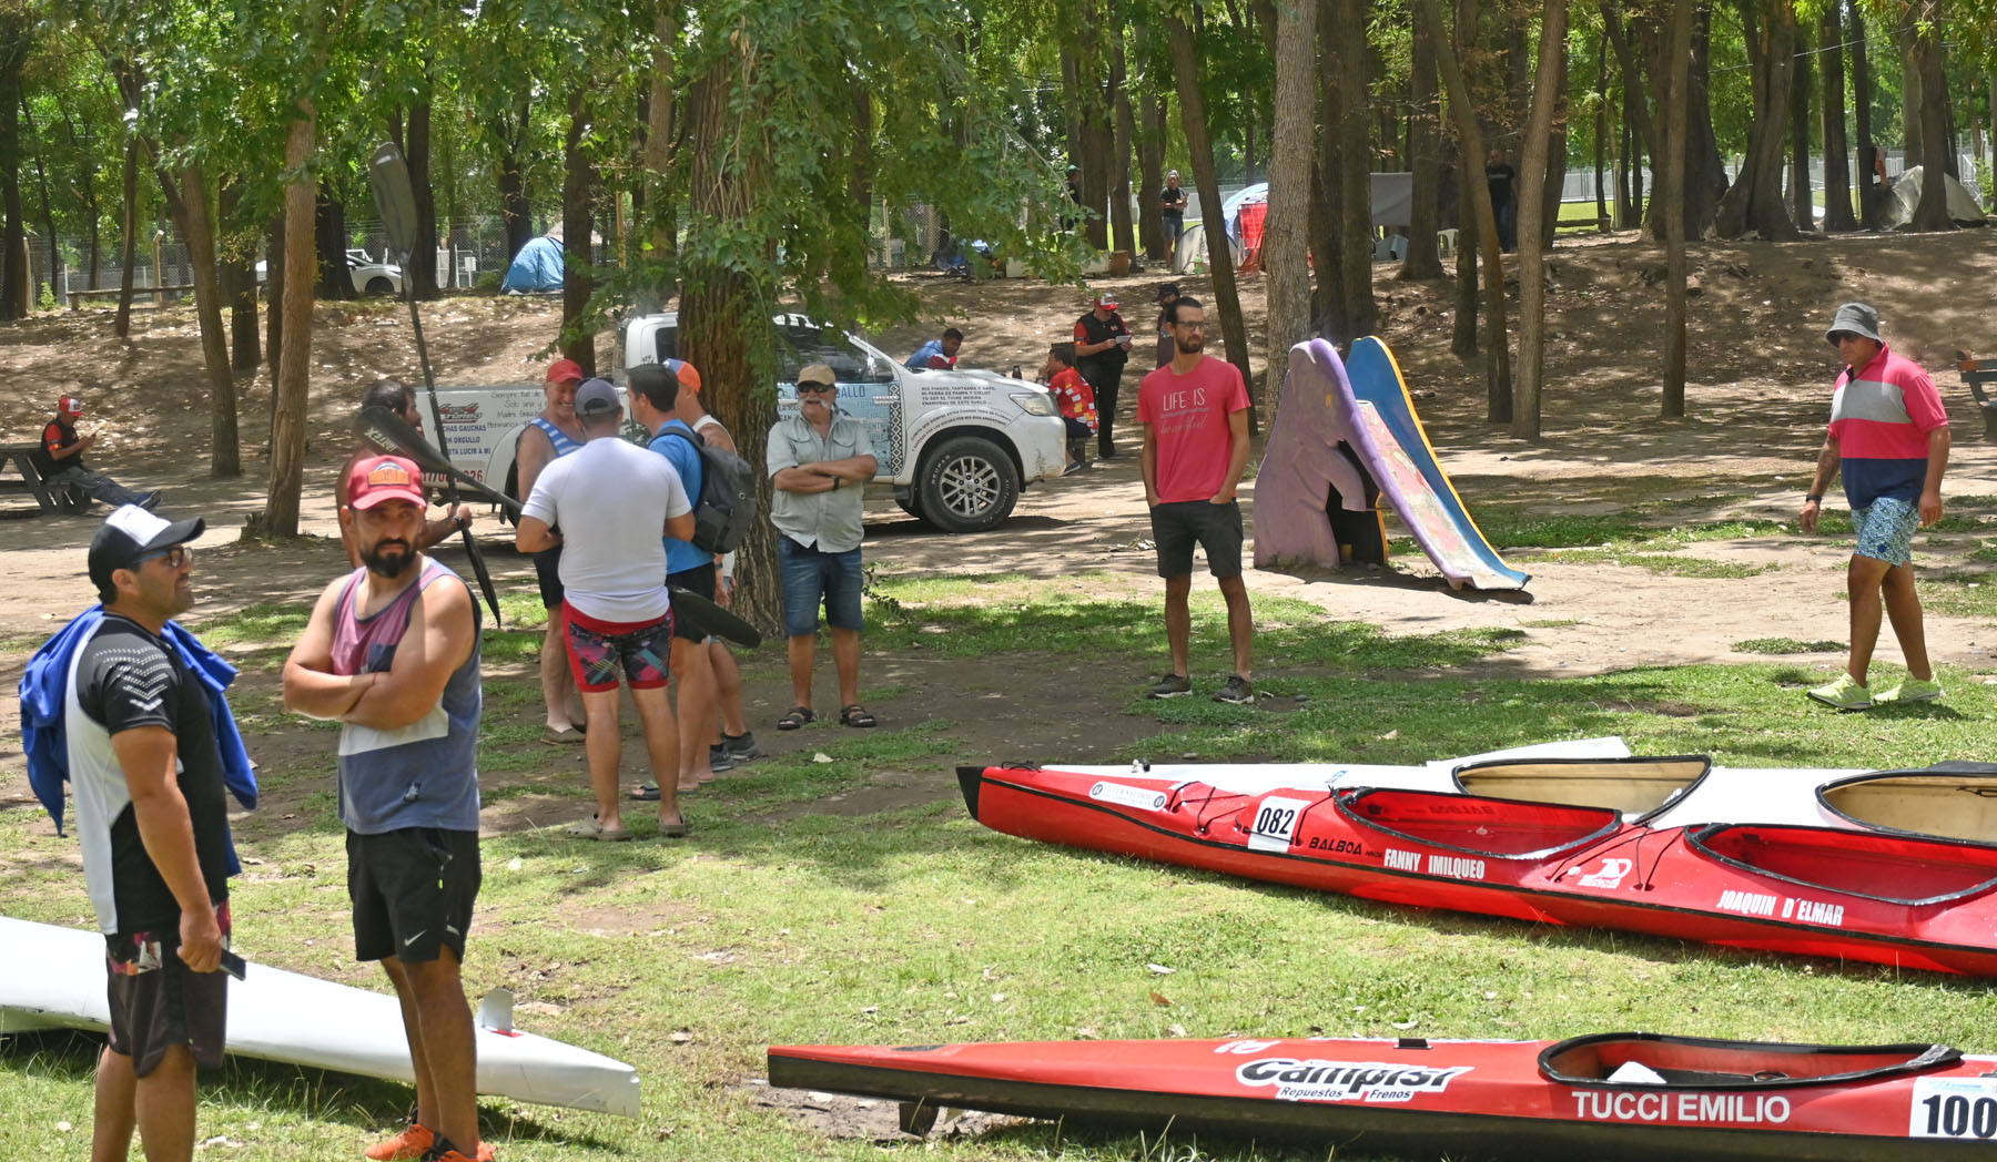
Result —
[[825, 363], [797, 373], [797, 415], [769, 429], [769, 519], [777, 525], [783, 633], [789, 637], [791, 711], [779, 731], [813, 721], [811, 671], [819, 661], [819, 605], [833, 629], [839, 723], [873, 727], [861, 707], [863, 489], [879, 469], [867, 429], [839, 409], [839, 377]]

